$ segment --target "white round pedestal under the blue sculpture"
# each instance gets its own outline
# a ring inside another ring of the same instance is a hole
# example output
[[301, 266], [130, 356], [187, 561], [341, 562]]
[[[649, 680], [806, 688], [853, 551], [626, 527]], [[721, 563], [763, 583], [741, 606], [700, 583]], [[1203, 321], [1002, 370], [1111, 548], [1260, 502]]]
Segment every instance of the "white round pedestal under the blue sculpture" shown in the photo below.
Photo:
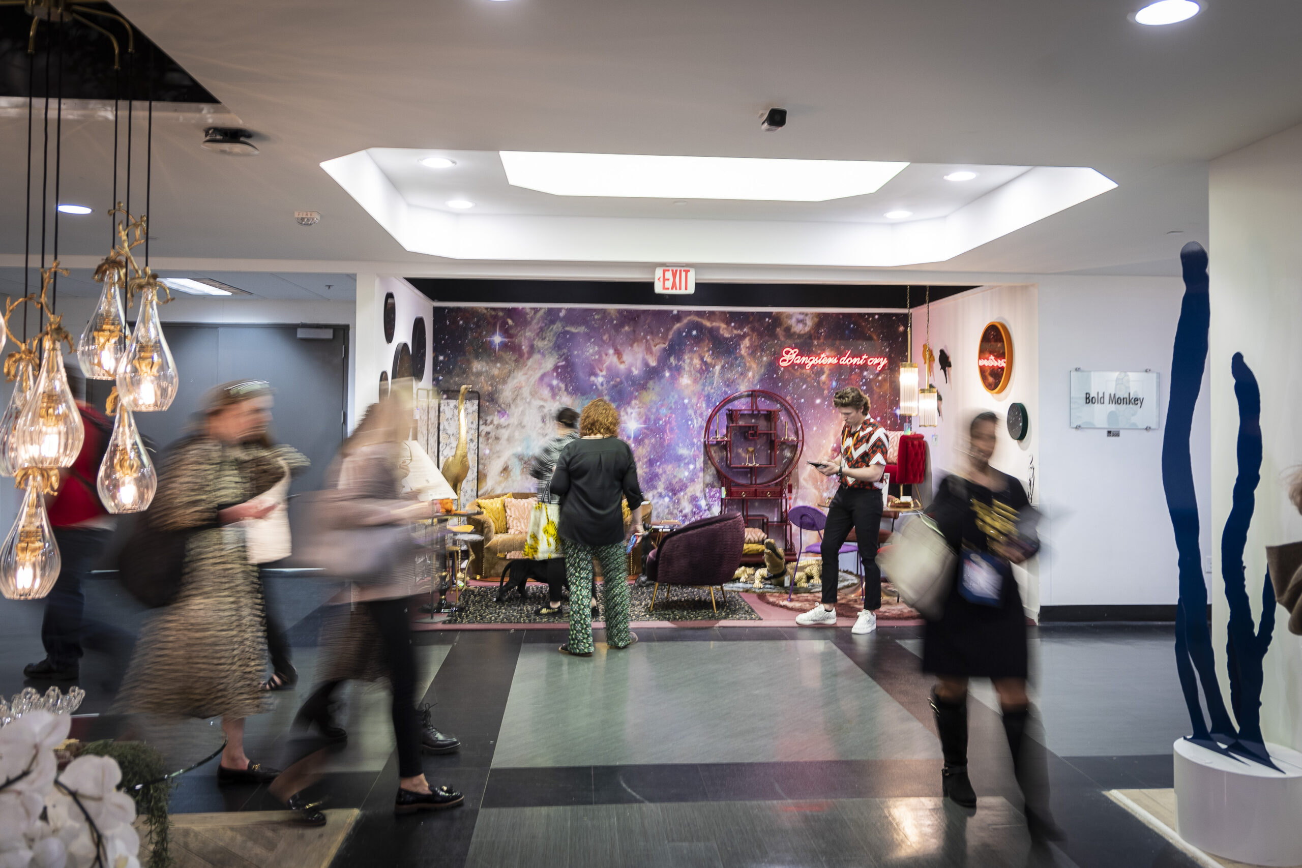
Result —
[[1282, 773], [1176, 742], [1181, 838], [1250, 865], [1302, 865], [1302, 753], [1281, 744], [1267, 748]]

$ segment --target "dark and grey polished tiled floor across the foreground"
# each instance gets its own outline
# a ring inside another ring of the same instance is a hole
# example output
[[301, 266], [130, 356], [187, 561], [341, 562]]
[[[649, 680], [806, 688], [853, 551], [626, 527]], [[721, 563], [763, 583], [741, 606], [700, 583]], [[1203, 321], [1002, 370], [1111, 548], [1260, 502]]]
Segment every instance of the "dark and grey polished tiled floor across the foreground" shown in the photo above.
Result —
[[[276, 761], [312, 678], [328, 586], [277, 580], [302, 675], [249, 721], [249, 753]], [[112, 582], [87, 612], [130, 629]], [[0, 604], [0, 692], [40, 657], [39, 604]], [[684, 627], [639, 631], [626, 651], [561, 656], [555, 630], [417, 634], [423, 701], [464, 750], [426, 757], [466, 795], [440, 815], [395, 817], [388, 692], [353, 686], [345, 750], [314, 794], [361, 808], [345, 865], [1191, 865], [1115, 806], [1109, 789], [1172, 785], [1184, 734], [1169, 626], [1032, 630], [1035, 692], [1051, 748], [1053, 808], [1068, 839], [1032, 847], [1019, 819], [988, 685], [974, 685], [971, 774], [980, 806], [940, 796], [940, 748], [918, 670], [921, 631]], [[598, 640], [603, 636], [598, 632]], [[87, 655], [83, 711], [107, 711], [113, 664]], [[39, 688], [44, 685], [34, 683]], [[263, 787], [186, 774], [173, 812], [277, 807]]]

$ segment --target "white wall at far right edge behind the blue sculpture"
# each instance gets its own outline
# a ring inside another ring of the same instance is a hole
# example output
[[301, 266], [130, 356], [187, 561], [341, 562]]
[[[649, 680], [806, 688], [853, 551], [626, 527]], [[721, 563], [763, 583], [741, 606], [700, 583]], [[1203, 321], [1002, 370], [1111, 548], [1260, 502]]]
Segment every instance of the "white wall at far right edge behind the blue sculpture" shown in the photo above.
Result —
[[[1242, 353], [1262, 388], [1264, 459], [1243, 557], [1259, 618], [1264, 547], [1302, 539], [1302, 517], [1281, 479], [1302, 463], [1302, 126], [1213, 160], [1210, 183], [1212, 450], [1225, 455], [1212, 467], [1212, 515], [1219, 543], [1237, 472], [1238, 405], [1229, 363]], [[1228, 608], [1220, 567], [1217, 547], [1212, 644], [1224, 656]], [[1276, 608], [1276, 618], [1264, 662], [1262, 730], [1268, 742], [1302, 748], [1302, 639], [1289, 634], [1282, 609]], [[1228, 700], [1224, 671], [1221, 682]]]

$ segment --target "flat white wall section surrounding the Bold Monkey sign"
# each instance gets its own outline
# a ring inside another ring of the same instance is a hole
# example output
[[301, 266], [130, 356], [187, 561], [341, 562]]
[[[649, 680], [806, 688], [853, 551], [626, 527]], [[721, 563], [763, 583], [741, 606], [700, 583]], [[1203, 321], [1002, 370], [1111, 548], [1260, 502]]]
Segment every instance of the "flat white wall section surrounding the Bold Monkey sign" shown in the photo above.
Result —
[[[1172, 255], [1178, 247], [1173, 245]], [[1161, 485], [1170, 354], [1184, 284], [1167, 277], [1042, 278], [1040, 501], [1052, 530], [1042, 557], [1044, 605], [1174, 604], [1176, 541]], [[1075, 431], [1068, 375], [1157, 371], [1157, 431]], [[1194, 414], [1194, 487], [1210, 553], [1208, 383]], [[1206, 566], [1204, 566], [1206, 569]]]

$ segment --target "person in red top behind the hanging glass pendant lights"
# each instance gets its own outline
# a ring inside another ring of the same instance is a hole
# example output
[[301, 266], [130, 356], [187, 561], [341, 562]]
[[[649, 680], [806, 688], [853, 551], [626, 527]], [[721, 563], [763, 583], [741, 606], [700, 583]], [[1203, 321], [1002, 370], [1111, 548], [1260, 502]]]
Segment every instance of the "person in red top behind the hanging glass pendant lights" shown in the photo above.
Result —
[[[86, 605], [82, 580], [104, 552], [113, 531], [113, 517], [99, 501], [95, 488], [112, 422], [86, 403], [86, 380], [77, 363], [69, 363], [66, 370], [86, 437], [73, 466], [59, 471], [59, 492], [47, 500], [62, 567], [46, 597], [46, 617], [40, 625], [46, 658], [22, 670], [27, 678], [40, 681], [76, 681], [81, 674], [82, 640], [89, 632], [82, 618]], [[95, 632], [111, 630], [105, 625], [95, 626], [103, 627]]]

